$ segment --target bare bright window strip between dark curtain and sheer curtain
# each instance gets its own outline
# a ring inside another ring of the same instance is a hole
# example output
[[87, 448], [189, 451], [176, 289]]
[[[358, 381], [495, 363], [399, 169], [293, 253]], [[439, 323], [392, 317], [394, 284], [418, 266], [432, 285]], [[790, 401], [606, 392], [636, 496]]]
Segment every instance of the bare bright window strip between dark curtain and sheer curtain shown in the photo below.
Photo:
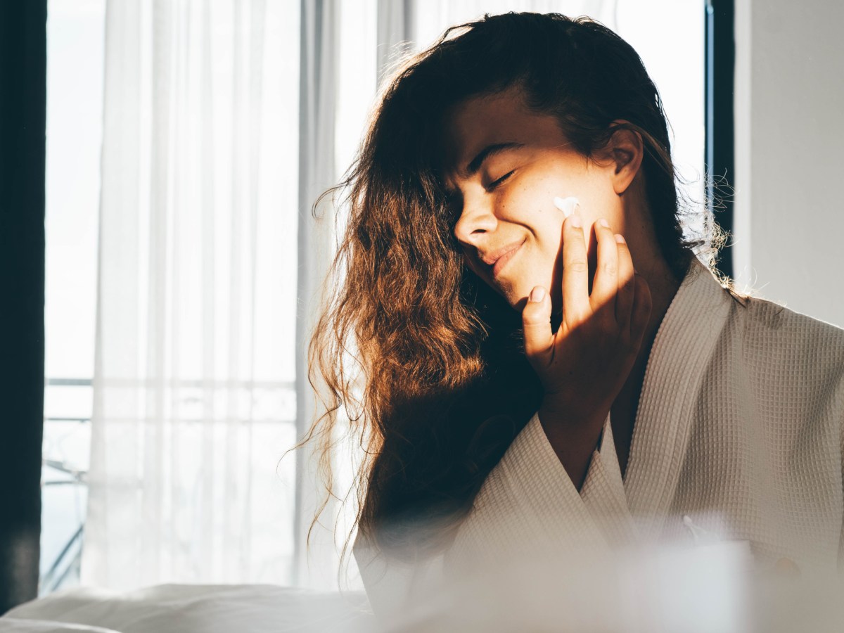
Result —
[[48, 4], [42, 593], [78, 582], [87, 502], [105, 14]]

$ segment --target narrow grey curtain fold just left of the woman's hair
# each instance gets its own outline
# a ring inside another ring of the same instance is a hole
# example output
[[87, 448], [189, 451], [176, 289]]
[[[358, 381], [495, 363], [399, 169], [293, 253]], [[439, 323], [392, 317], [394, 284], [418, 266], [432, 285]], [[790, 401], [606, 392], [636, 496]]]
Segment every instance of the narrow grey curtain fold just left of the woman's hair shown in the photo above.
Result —
[[[297, 268], [299, 311], [296, 320], [297, 437], [311, 426], [317, 403], [308, 381], [308, 341], [317, 321], [320, 290], [334, 250], [333, 198], [322, 192], [338, 180], [335, 169], [335, 125], [338, 106], [339, 4], [335, 0], [301, 0], [299, 80], [299, 229]], [[330, 587], [338, 576], [337, 538], [327, 501], [321, 520], [311, 530], [323, 487], [317, 477], [317, 454], [307, 445], [296, 455], [295, 583]], [[310, 538], [309, 538], [310, 533]]]

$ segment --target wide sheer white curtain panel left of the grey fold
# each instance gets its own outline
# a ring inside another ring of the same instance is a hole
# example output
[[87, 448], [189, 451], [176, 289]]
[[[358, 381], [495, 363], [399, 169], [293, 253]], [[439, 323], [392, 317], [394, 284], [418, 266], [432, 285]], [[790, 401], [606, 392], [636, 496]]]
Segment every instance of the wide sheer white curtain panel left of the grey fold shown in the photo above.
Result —
[[84, 582], [292, 579], [298, 8], [107, 3]]

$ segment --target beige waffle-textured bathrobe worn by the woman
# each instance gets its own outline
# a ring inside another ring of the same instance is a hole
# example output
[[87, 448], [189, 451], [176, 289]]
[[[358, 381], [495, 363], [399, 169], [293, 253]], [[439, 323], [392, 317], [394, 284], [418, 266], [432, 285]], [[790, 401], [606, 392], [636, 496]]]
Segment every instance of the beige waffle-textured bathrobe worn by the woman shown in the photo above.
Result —
[[484, 482], [444, 569], [522, 549], [611, 551], [708, 533], [748, 541], [761, 568], [786, 558], [834, 573], [842, 422], [844, 330], [739, 302], [695, 261], [652, 346], [625, 478], [609, 415], [578, 493], [534, 414]]

